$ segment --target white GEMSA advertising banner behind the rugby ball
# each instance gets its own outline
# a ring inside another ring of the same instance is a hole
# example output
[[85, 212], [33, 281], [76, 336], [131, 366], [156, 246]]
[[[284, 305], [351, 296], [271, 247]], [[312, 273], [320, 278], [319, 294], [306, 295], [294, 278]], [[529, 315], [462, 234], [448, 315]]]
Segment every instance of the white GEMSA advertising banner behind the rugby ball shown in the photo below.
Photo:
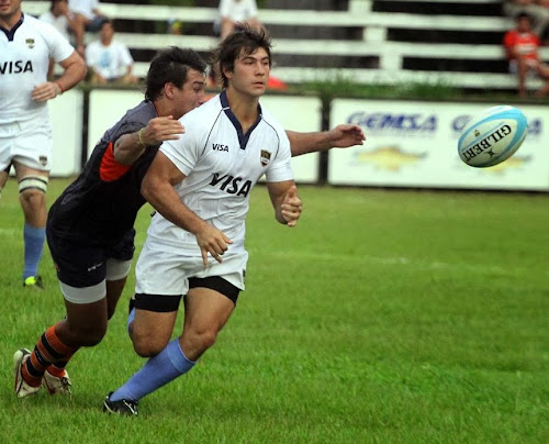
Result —
[[359, 124], [363, 146], [329, 153], [328, 182], [382, 187], [549, 190], [548, 107], [517, 106], [528, 119], [523, 146], [504, 163], [473, 168], [458, 156], [467, 121], [502, 103], [336, 99], [332, 122]]

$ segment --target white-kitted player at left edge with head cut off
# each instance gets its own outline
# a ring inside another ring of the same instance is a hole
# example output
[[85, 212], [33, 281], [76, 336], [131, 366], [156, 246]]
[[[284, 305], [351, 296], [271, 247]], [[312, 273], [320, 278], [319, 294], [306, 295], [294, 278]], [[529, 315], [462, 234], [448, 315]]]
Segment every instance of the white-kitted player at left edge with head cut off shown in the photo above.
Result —
[[[64, 68], [56, 81], [47, 81], [49, 58]], [[85, 76], [86, 63], [57, 30], [24, 14], [21, 0], [0, 0], [0, 191], [13, 165], [25, 221], [26, 287], [42, 287], [38, 264], [53, 147], [46, 102]]]

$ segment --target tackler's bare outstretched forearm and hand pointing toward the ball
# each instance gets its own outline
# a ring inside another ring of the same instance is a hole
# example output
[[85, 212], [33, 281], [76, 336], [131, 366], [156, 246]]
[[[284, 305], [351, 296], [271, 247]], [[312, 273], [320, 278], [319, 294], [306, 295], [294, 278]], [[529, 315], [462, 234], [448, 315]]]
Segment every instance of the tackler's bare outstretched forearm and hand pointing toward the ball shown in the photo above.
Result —
[[362, 129], [355, 124], [340, 124], [333, 130], [314, 133], [295, 131], [287, 131], [285, 133], [290, 140], [292, 157], [330, 148], [362, 145], [366, 141]]

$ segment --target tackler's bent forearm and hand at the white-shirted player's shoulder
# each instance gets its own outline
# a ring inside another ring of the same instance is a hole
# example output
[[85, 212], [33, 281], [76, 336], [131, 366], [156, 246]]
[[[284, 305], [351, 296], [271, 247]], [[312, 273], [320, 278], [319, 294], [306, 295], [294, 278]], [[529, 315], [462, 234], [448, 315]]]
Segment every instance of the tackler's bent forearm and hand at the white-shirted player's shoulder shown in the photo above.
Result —
[[146, 126], [116, 140], [114, 158], [122, 165], [132, 165], [147, 146], [156, 146], [164, 141], [176, 141], [179, 134], [183, 133], [183, 125], [172, 115], [150, 119]]

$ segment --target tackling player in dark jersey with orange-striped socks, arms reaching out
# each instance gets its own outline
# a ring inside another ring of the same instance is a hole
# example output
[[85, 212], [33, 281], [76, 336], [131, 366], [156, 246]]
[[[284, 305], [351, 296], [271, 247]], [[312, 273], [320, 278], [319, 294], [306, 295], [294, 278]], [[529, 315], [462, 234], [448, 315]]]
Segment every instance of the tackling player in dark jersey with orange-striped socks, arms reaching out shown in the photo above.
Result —
[[[103, 338], [130, 273], [133, 229], [145, 203], [144, 175], [163, 141], [183, 133], [177, 120], [205, 101], [206, 64], [192, 49], [159, 52], [146, 78], [145, 100], [128, 110], [96, 145], [79, 177], [52, 206], [47, 240], [66, 315], [47, 328], [33, 349], [18, 349], [14, 392], [69, 393], [65, 369], [82, 346]], [[292, 155], [362, 144], [357, 125], [317, 133], [288, 133]]]

